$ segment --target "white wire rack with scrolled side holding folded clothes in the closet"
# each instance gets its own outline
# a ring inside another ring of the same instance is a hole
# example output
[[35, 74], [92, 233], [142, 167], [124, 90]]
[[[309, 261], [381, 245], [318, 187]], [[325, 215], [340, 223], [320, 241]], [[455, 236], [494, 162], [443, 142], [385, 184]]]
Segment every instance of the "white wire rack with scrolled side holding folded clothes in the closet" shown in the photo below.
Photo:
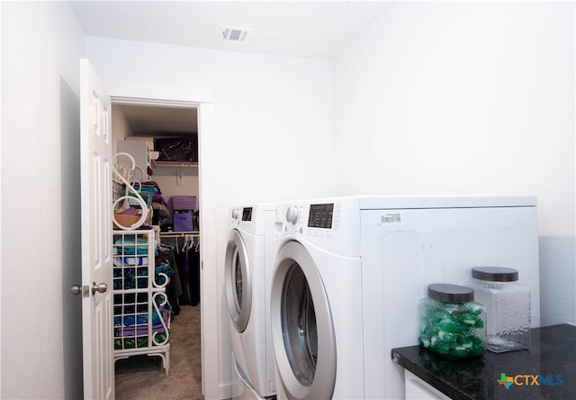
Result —
[[155, 232], [113, 231], [114, 361], [158, 356], [170, 365], [169, 277], [155, 265]]

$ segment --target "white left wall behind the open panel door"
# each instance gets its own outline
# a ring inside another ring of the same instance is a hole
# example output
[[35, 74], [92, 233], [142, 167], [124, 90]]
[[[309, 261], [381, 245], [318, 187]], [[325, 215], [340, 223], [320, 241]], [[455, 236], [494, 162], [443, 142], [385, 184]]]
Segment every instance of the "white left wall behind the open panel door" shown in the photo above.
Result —
[[2, 389], [82, 397], [79, 59], [67, 3], [2, 2]]

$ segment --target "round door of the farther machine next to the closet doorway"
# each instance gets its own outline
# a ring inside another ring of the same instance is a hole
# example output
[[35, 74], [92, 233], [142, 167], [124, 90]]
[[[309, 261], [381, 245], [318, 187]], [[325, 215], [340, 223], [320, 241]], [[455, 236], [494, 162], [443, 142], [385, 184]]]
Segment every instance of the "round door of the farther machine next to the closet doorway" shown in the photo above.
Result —
[[230, 320], [238, 332], [244, 332], [252, 307], [252, 282], [246, 245], [235, 229], [229, 235], [224, 267]]

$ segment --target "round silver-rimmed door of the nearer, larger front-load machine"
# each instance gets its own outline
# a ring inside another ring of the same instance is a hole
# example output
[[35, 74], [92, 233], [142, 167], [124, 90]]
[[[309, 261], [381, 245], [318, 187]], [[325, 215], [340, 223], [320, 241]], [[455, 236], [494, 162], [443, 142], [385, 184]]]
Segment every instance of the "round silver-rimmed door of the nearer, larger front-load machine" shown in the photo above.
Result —
[[337, 353], [329, 299], [310, 253], [298, 241], [287, 242], [276, 255], [270, 314], [285, 394], [331, 398]]

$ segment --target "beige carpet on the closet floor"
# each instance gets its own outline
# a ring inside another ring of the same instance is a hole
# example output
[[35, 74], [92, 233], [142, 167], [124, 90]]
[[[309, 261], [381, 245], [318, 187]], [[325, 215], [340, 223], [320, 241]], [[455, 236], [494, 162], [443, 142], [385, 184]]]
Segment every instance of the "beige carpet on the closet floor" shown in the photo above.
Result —
[[168, 376], [159, 357], [116, 361], [117, 400], [202, 400], [200, 305], [184, 305], [170, 325]]

